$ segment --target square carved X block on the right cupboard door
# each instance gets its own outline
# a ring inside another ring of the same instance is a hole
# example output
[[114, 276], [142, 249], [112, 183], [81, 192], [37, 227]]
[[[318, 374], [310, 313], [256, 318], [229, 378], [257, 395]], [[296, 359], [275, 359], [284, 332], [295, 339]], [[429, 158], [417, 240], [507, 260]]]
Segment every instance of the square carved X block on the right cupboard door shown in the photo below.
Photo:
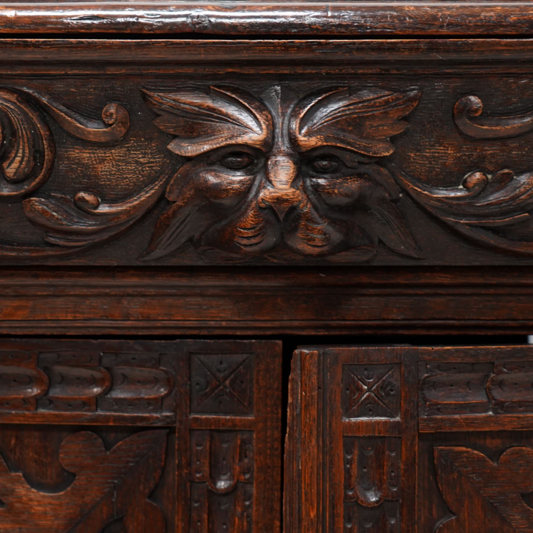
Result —
[[397, 418], [400, 415], [400, 365], [344, 365], [345, 418]]

